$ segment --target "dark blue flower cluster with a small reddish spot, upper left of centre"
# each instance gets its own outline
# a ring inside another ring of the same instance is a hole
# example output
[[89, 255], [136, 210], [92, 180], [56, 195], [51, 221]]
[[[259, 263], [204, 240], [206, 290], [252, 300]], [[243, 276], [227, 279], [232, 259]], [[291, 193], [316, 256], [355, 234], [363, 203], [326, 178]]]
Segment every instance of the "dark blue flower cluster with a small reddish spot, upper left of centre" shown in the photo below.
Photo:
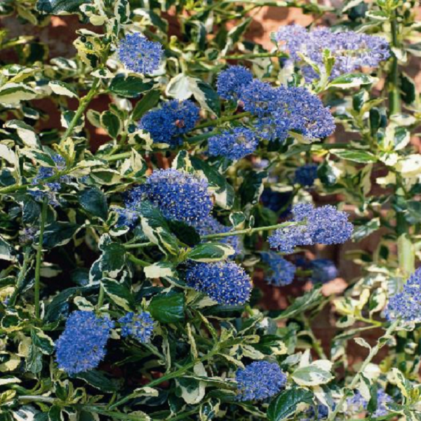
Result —
[[181, 135], [192, 131], [199, 121], [199, 107], [190, 100], [164, 102], [159, 109], [147, 112], [139, 121], [139, 128], [149, 132], [154, 143], [177, 146]]

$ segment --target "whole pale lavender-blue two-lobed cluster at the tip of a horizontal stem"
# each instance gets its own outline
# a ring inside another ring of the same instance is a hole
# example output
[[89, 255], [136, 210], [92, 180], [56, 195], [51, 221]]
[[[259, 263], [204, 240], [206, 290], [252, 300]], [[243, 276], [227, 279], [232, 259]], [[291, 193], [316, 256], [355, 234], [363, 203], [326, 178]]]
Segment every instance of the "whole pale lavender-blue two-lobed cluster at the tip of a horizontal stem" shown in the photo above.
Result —
[[342, 244], [351, 237], [354, 228], [347, 213], [330, 205], [314, 208], [312, 204], [300, 203], [293, 208], [293, 221], [305, 225], [276, 229], [269, 236], [271, 248], [293, 253], [295, 246]]

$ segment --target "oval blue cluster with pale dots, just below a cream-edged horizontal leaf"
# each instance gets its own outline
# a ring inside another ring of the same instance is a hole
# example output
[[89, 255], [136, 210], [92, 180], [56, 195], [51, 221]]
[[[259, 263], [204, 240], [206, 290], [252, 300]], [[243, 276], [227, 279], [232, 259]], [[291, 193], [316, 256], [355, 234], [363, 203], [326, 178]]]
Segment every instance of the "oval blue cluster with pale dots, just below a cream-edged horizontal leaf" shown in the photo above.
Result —
[[250, 276], [234, 262], [194, 263], [186, 271], [186, 280], [218, 304], [243, 305], [250, 298]]

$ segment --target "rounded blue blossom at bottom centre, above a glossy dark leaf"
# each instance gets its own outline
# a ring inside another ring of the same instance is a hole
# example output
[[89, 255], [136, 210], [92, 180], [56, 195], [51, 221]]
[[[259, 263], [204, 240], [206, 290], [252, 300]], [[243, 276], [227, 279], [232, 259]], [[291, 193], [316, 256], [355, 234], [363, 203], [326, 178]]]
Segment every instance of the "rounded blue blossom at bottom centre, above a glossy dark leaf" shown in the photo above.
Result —
[[286, 374], [277, 363], [255, 361], [236, 371], [237, 400], [263, 401], [281, 392]]

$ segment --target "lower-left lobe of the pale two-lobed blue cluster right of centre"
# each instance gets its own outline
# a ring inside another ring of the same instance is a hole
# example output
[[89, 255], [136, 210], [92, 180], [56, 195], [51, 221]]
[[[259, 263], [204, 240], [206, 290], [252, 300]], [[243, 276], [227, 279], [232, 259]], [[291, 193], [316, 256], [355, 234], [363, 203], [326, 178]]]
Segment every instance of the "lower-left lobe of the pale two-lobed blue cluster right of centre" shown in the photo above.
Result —
[[296, 246], [310, 246], [313, 244], [307, 227], [294, 225], [276, 229], [267, 239], [269, 246], [281, 253], [293, 253]]

